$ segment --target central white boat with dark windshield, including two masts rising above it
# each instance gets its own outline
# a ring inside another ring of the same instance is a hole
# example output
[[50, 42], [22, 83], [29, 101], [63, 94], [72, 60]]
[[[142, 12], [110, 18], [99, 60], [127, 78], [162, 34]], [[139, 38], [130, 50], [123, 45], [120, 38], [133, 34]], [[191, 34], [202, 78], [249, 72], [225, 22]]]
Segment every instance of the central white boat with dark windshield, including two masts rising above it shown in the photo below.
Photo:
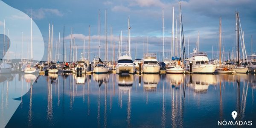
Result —
[[130, 18], [128, 18], [128, 44], [127, 47], [129, 48], [129, 51], [122, 53], [122, 31], [121, 31], [121, 48], [120, 53], [116, 65], [116, 73], [131, 73], [133, 74], [135, 71], [135, 67], [131, 58], [131, 47], [130, 47]]

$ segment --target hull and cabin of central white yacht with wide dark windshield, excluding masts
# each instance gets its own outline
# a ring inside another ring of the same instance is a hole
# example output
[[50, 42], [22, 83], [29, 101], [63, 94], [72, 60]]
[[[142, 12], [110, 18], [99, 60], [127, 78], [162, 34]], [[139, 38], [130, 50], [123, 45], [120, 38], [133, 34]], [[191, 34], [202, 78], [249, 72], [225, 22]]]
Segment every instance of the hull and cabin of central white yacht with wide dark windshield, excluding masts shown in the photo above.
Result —
[[118, 58], [116, 64], [116, 73], [131, 73], [135, 71], [134, 63], [132, 61], [131, 55], [121, 55]]

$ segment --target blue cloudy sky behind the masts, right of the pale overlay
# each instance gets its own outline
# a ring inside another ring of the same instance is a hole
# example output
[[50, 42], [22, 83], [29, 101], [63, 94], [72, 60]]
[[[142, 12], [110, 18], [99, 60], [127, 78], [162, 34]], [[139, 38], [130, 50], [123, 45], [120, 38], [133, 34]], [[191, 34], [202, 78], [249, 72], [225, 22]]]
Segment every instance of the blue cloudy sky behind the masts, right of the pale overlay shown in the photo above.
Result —
[[[107, 12], [107, 42], [108, 60], [113, 58], [111, 50], [111, 26], [112, 43], [115, 42], [117, 53], [119, 35], [122, 31], [122, 45], [127, 43], [128, 17], [130, 17], [131, 55], [135, 59], [137, 46], [137, 58], [143, 58], [143, 41], [148, 36], [148, 52], [157, 53], [159, 61], [163, 53], [163, 21], [164, 10], [164, 56], [170, 56], [172, 40], [172, 7], [175, 8], [177, 19], [177, 32], [179, 32], [179, 1], [178, 0], [3, 0], [9, 6], [18, 9], [31, 16], [40, 29], [44, 38], [44, 57], [47, 60], [47, 44], [49, 23], [53, 23], [53, 55], [55, 56], [56, 42], [61, 33], [61, 46], [63, 45], [63, 26], [65, 26], [64, 44], [67, 47], [66, 60], [69, 60], [70, 33], [73, 28], [75, 45], [78, 45], [78, 57], [83, 51], [85, 38], [85, 51], [88, 48], [88, 35], [90, 25], [90, 61], [98, 55], [98, 17], [100, 10], [100, 47], [101, 58], [105, 53], [105, 10]], [[230, 49], [236, 51], [236, 19], [235, 12], [239, 12], [241, 27], [244, 31], [244, 42], [247, 55], [251, 54], [251, 36], [256, 38], [256, 5], [255, 0], [182, 0], [181, 10], [183, 19], [183, 31], [185, 49], [188, 53], [188, 37], [190, 52], [195, 48], [199, 32], [199, 50], [208, 53], [209, 58], [218, 54], [219, 17], [222, 19], [222, 43], [225, 55]], [[175, 26], [175, 25], [174, 25]], [[0, 31], [3, 31], [3, 17], [0, 18]], [[174, 28], [175, 31], [175, 28]], [[177, 33], [178, 36], [179, 33]], [[179, 37], [179, 36], [178, 36]], [[256, 44], [253, 41], [253, 45]], [[113, 47], [113, 44], [112, 44]], [[62, 49], [60, 47], [60, 61], [62, 61]], [[126, 49], [123, 47], [123, 50]], [[223, 48], [222, 48], [223, 49]], [[58, 51], [58, 50], [57, 50]], [[253, 49], [255, 52], [256, 49]], [[116, 55], [115, 55], [116, 57]], [[56, 59], [58, 55], [56, 55]], [[87, 58], [87, 53], [86, 53]], [[53, 57], [55, 59], [55, 57]], [[58, 59], [57, 59], [58, 60]]]

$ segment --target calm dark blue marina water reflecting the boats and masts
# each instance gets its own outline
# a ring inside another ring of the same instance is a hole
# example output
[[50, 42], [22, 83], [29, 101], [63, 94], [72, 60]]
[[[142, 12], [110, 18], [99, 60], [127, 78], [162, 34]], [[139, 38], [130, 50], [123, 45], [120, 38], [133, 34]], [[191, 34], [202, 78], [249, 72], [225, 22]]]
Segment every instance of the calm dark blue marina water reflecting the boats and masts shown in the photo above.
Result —
[[[25, 93], [22, 96], [20, 89], [15, 92], [21, 102], [7, 128], [217, 127], [218, 120], [233, 120], [232, 111], [238, 112], [236, 120], [256, 123], [255, 75], [55, 74], [15, 78], [5, 82], [22, 81], [15, 86], [22, 86]], [[0, 88], [2, 106], [8, 103], [7, 88], [14, 88], [14, 84], [4, 86]]]

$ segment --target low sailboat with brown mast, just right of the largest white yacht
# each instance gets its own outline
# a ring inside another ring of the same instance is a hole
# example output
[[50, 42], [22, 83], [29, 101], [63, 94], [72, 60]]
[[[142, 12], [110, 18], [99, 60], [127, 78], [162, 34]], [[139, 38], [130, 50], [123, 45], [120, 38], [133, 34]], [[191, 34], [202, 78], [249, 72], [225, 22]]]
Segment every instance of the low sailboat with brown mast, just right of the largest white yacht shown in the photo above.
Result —
[[234, 70], [231, 70], [230, 68], [221, 66], [222, 62], [221, 62], [221, 17], [220, 17], [220, 25], [219, 25], [219, 46], [220, 46], [220, 61], [219, 64], [217, 64], [215, 73], [225, 73], [225, 74], [232, 74], [232, 73], [236, 73]]

